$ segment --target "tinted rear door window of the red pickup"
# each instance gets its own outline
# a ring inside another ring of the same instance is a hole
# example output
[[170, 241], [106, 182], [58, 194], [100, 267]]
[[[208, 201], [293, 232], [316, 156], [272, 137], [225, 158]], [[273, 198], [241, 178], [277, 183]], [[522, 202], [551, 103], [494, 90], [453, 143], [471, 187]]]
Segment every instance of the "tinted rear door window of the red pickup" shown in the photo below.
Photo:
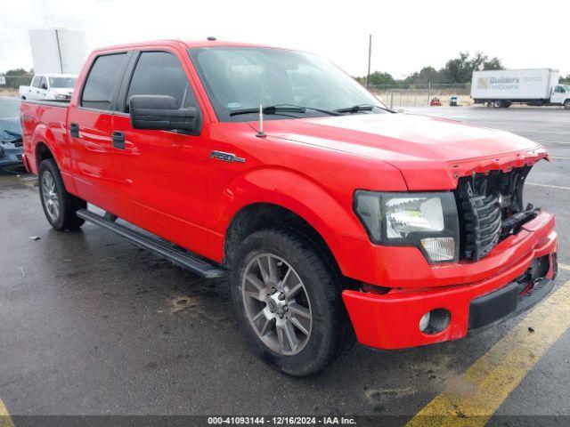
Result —
[[103, 110], [113, 108], [126, 60], [126, 52], [97, 57], [81, 94], [82, 107]]

